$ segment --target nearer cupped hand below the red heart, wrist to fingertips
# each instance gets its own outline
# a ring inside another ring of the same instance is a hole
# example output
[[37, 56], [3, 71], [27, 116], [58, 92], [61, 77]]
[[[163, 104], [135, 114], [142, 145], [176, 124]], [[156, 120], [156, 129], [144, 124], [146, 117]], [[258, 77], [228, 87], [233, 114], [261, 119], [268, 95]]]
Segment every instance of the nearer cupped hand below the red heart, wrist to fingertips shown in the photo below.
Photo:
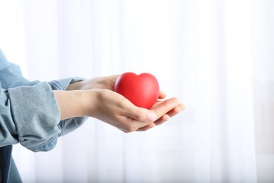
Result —
[[173, 116], [183, 109], [177, 98], [159, 100], [150, 110], [134, 106], [124, 96], [109, 89], [91, 89], [96, 95], [91, 96], [89, 116], [107, 122], [123, 132], [145, 131], [162, 124], [168, 116]]

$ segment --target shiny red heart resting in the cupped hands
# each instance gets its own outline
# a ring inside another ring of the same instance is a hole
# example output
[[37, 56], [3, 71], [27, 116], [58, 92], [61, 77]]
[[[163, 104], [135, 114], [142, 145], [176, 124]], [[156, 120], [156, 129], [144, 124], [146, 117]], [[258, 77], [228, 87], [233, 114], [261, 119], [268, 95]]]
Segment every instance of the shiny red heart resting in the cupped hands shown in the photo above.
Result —
[[135, 106], [149, 109], [158, 99], [159, 83], [156, 77], [149, 73], [136, 75], [133, 72], [125, 72], [117, 78], [114, 90]]

